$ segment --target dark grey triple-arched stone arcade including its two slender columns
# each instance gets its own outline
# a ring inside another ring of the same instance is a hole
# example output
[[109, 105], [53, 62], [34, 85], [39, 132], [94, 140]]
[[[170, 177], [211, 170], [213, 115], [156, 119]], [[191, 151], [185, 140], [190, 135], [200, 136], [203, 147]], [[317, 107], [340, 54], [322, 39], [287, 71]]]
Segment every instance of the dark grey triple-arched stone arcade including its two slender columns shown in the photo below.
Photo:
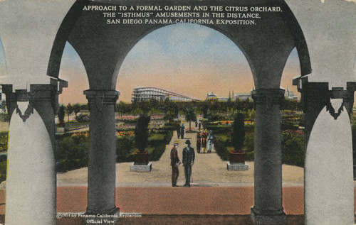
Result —
[[[88, 214], [115, 213], [115, 140], [111, 138], [117, 75], [127, 53], [145, 35], [162, 24], [106, 24], [102, 13], [84, 11], [83, 6], [145, 5], [145, 1], [76, 1], [68, 11], [54, 41], [48, 75], [58, 78], [60, 57], [66, 41], [80, 56], [90, 89], [85, 91], [90, 106], [90, 165], [88, 168]], [[155, 2], [164, 6], [165, 1]], [[214, 1], [184, 0], [179, 5], [216, 6]], [[311, 72], [303, 32], [284, 1], [220, 1], [219, 6], [279, 6], [280, 13], [263, 13], [253, 26], [204, 24], [232, 40], [244, 53], [253, 73], [256, 91], [255, 206], [251, 209], [257, 224], [285, 222], [281, 176], [281, 75], [293, 48], [298, 49], [302, 75]], [[209, 19], [217, 20], [209, 14]], [[193, 17], [191, 17], [194, 19]], [[93, 22], [95, 21], [95, 23]], [[272, 125], [272, 128], [271, 128]], [[105, 157], [102, 150], [105, 149]], [[266, 165], [273, 161], [273, 165]], [[102, 172], [98, 172], [98, 169]], [[105, 172], [103, 172], [105, 170]], [[267, 172], [268, 173], [267, 173]], [[105, 176], [103, 176], [105, 174]], [[105, 185], [104, 185], [105, 184]]]

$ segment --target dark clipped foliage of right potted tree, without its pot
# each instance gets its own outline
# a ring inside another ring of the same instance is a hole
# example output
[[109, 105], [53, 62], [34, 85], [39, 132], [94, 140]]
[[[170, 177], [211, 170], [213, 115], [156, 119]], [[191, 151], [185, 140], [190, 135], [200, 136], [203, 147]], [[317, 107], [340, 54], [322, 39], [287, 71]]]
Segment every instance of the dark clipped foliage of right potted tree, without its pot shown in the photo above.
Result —
[[245, 140], [245, 119], [244, 114], [238, 113], [234, 116], [234, 123], [232, 124], [231, 141], [234, 150], [241, 153], [244, 147]]

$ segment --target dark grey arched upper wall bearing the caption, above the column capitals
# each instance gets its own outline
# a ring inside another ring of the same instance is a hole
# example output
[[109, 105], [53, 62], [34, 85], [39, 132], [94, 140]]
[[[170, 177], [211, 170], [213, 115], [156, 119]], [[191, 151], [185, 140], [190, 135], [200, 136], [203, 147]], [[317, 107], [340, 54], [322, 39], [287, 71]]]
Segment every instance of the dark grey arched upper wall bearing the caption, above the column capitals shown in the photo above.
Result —
[[[118, 70], [130, 49], [142, 37], [167, 25], [106, 24], [102, 11], [83, 11], [85, 5], [147, 5], [147, 1], [77, 1], [64, 19], [53, 46], [53, 64], [49, 70], [58, 70], [56, 53], [63, 51], [66, 40], [80, 55], [88, 74], [90, 89], [115, 89]], [[169, 5], [175, 1], [169, 2]], [[155, 1], [155, 5], [167, 5], [167, 1]], [[303, 33], [284, 1], [192, 1], [183, 0], [177, 5], [189, 6], [281, 6], [282, 13], [263, 13], [263, 18], [252, 26], [204, 25], [220, 31], [239, 46], [253, 72], [256, 88], [280, 86], [281, 75], [290, 51], [296, 46], [300, 57], [302, 75], [310, 73], [308, 50]], [[130, 11], [135, 12], [135, 11]], [[162, 11], [164, 12], [164, 10]], [[262, 16], [261, 16], [262, 17]], [[76, 21], [73, 23], [73, 21]], [[292, 31], [292, 33], [290, 33]], [[65, 38], [63, 38], [65, 37]], [[63, 46], [63, 47], [62, 47]], [[302, 60], [305, 62], [302, 62]], [[306, 65], [303, 67], [303, 65]], [[304, 68], [304, 69], [303, 69]], [[53, 73], [50, 73], [53, 74]], [[54, 73], [56, 74], [56, 73]]]

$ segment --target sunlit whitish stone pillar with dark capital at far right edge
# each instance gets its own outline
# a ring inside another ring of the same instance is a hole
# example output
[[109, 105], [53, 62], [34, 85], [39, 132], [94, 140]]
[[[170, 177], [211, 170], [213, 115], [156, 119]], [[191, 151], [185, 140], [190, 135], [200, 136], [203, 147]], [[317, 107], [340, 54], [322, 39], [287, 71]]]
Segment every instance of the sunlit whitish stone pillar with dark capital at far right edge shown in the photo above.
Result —
[[350, 119], [356, 83], [347, 82], [346, 89], [308, 77], [294, 83], [305, 115], [305, 224], [354, 224]]

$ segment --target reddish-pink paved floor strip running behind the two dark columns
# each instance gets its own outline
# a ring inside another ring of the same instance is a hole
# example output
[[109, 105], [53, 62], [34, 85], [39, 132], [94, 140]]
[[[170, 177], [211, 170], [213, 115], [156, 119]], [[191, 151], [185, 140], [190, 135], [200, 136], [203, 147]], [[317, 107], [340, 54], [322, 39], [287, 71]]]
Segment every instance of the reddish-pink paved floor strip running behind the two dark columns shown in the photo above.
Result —
[[[253, 187], [117, 187], [120, 212], [142, 214], [250, 214]], [[85, 212], [86, 187], [58, 187], [57, 212]], [[287, 214], [303, 214], [303, 187], [284, 187]], [[0, 212], [1, 214], [1, 212]]]

